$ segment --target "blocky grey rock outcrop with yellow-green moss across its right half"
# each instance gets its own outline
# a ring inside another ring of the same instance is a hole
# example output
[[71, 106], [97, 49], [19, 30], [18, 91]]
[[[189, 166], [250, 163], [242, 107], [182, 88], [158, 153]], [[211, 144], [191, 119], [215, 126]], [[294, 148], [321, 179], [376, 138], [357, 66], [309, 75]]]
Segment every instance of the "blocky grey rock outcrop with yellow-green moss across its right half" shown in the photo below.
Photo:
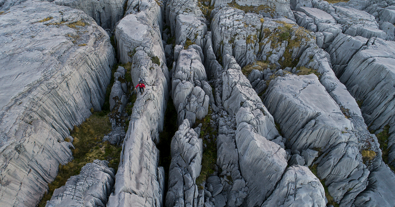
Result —
[[241, 67], [254, 66], [256, 61], [267, 61], [278, 67], [297, 63], [301, 53], [316, 42], [313, 32], [291, 20], [263, 18], [233, 8], [222, 8], [215, 13], [212, 32], [216, 55], [222, 58], [232, 55]]

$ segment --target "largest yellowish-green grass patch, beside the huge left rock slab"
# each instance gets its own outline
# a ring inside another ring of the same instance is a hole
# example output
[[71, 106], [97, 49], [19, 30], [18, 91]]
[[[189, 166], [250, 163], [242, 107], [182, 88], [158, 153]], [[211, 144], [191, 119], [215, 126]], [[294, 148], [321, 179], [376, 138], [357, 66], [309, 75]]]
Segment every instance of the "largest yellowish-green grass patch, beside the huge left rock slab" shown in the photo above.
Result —
[[51, 199], [53, 191], [66, 184], [66, 181], [74, 175], [78, 175], [81, 167], [95, 159], [109, 161], [109, 167], [118, 169], [121, 146], [111, 145], [109, 142], [101, 142], [105, 134], [111, 130], [111, 124], [107, 114], [94, 112], [85, 122], [75, 126], [70, 135], [74, 138], [75, 147], [71, 162], [66, 165], [59, 165], [58, 175], [55, 180], [48, 184], [49, 190], [44, 194], [39, 207], [45, 207]]

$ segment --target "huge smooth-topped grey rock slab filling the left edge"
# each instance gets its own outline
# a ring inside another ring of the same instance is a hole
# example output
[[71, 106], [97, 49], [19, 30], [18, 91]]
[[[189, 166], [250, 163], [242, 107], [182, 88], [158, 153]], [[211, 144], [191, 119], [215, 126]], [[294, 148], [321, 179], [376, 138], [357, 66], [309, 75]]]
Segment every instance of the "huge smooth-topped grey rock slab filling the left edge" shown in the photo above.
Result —
[[4, 206], [36, 205], [58, 165], [71, 160], [64, 139], [91, 108], [101, 110], [114, 64], [108, 34], [82, 11], [19, 3], [0, 15]]

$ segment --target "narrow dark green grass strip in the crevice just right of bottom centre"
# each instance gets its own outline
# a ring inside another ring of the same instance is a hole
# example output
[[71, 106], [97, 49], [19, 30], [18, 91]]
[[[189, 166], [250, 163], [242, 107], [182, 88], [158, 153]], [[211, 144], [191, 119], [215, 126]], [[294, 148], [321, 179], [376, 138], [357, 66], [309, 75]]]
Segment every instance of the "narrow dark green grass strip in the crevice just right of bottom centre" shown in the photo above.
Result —
[[[212, 113], [211, 107], [209, 107], [208, 114], [202, 120], [196, 119], [196, 123], [194, 125], [195, 128], [199, 123], [202, 124], [199, 137], [203, 140], [203, 157], [201, 160], [200, 175], [196, 178], [196, 184], [198, 185], [199, 190], [203, 189], [203, 182], [214, 173], [214, 166], [217, 161], [216, 138], [214, 141], [211, 139], [213, 135], [217, 134], [216, 129], [211, 127], [210, 124]], [[209, 136], [208, 139], [205, 138], [207, 135]], [[205, 145], [207, 145], [206, 148], [204, 148]]]

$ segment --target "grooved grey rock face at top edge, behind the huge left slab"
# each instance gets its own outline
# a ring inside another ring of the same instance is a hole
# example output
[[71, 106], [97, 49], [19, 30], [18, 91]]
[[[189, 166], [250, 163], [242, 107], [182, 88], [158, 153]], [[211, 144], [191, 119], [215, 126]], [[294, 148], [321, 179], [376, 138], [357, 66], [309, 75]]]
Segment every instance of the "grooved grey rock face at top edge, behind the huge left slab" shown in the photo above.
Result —
[[47, 0], [57, 5], [68, 6], [84, 11], [92, 17], [96, 23], [104, 28], [113, 30], [115, 24], [124, 15], [126, 0]]

